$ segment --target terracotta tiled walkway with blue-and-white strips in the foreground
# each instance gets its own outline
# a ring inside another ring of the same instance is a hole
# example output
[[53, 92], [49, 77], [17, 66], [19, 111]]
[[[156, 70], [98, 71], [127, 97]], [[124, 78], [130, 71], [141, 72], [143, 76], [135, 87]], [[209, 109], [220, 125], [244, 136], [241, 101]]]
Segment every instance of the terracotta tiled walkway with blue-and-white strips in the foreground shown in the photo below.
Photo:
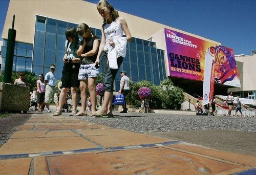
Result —
[[256, 174], [256, 157], [32, 114], [0, 147], [0, 174]]

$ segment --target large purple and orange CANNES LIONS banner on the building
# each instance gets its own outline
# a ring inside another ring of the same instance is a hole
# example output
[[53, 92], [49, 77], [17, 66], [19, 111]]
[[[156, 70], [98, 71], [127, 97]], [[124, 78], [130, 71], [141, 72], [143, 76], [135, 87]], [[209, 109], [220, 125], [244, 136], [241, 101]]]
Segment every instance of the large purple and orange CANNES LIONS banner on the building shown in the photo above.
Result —
[[170, 76], [240, 87], [232, 49], [170, 29], [164, 34]]

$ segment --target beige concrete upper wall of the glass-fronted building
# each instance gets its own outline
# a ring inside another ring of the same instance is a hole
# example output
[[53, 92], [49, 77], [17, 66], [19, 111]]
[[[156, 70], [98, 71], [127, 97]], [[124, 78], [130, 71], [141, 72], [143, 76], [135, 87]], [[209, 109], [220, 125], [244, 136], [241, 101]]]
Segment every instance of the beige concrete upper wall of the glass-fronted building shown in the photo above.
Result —
[[[79, 11], [79, 12], [78, 12]], [[16, 40], [20, 42], [34, 42], [35, 15], [46, 16], [54, 19], [68, 21], [70, 23], [87, 23], [90, 27], [101, 29], [102, 17], [99, 15], [96, 4], [81, 0], [10, 0], [6, 21], [3, 29], [3, 38], [7, 38], [8, 29], [12, 26], [12, 17], [15, 14], [14, 29], [17, 31]], [[156, 23], [131, 14], [119, 11], [119, 15], [124, 17], [133, 37], [148, 39], [163, 28], [177, 30], [169, 26]], [[189, 33], [187, 33], [189, 34]], [[205, 40], [201, 36], [189, 34]], [[163, 36], [162, 36], [163, 37]], [[163, 38], [164, 39], [164, 38]], [[211, 40], [210, 40], [211, 41]], [[211, 41], [215, 42], [215, 41]]]

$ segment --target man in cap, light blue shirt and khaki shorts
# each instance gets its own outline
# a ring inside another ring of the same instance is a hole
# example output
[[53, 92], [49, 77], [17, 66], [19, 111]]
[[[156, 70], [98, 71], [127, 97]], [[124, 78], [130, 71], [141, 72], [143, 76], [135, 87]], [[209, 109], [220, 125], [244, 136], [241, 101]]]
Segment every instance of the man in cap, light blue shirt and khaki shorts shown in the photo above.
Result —
[[45, 103], [46, 103], [46, 112], [50, 113], [50, 106], [52, 100], [54, 100], [56, 104], [56, 108], [58, 108], [58, 93], [56, 91], [56, 78], [53, 73], [55, 73], [55, 65], [50, 65], [51, 71], [48, 72], [45, 76], [45, 86], [46, 86], [46, 94], [45, 94]]

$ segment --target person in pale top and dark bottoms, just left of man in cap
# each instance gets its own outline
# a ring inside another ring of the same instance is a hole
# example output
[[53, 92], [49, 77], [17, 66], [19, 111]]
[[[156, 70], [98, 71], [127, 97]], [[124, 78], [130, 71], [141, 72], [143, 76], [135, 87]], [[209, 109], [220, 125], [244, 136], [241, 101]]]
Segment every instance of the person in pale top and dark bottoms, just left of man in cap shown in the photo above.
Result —
[[37, 106], [38, 112], [42, 112], [43, 106], [45, 105], [45, 77], [44, 74], [39, 74], [39, 79], [36, 81], [36, 98], [37, 98]]

